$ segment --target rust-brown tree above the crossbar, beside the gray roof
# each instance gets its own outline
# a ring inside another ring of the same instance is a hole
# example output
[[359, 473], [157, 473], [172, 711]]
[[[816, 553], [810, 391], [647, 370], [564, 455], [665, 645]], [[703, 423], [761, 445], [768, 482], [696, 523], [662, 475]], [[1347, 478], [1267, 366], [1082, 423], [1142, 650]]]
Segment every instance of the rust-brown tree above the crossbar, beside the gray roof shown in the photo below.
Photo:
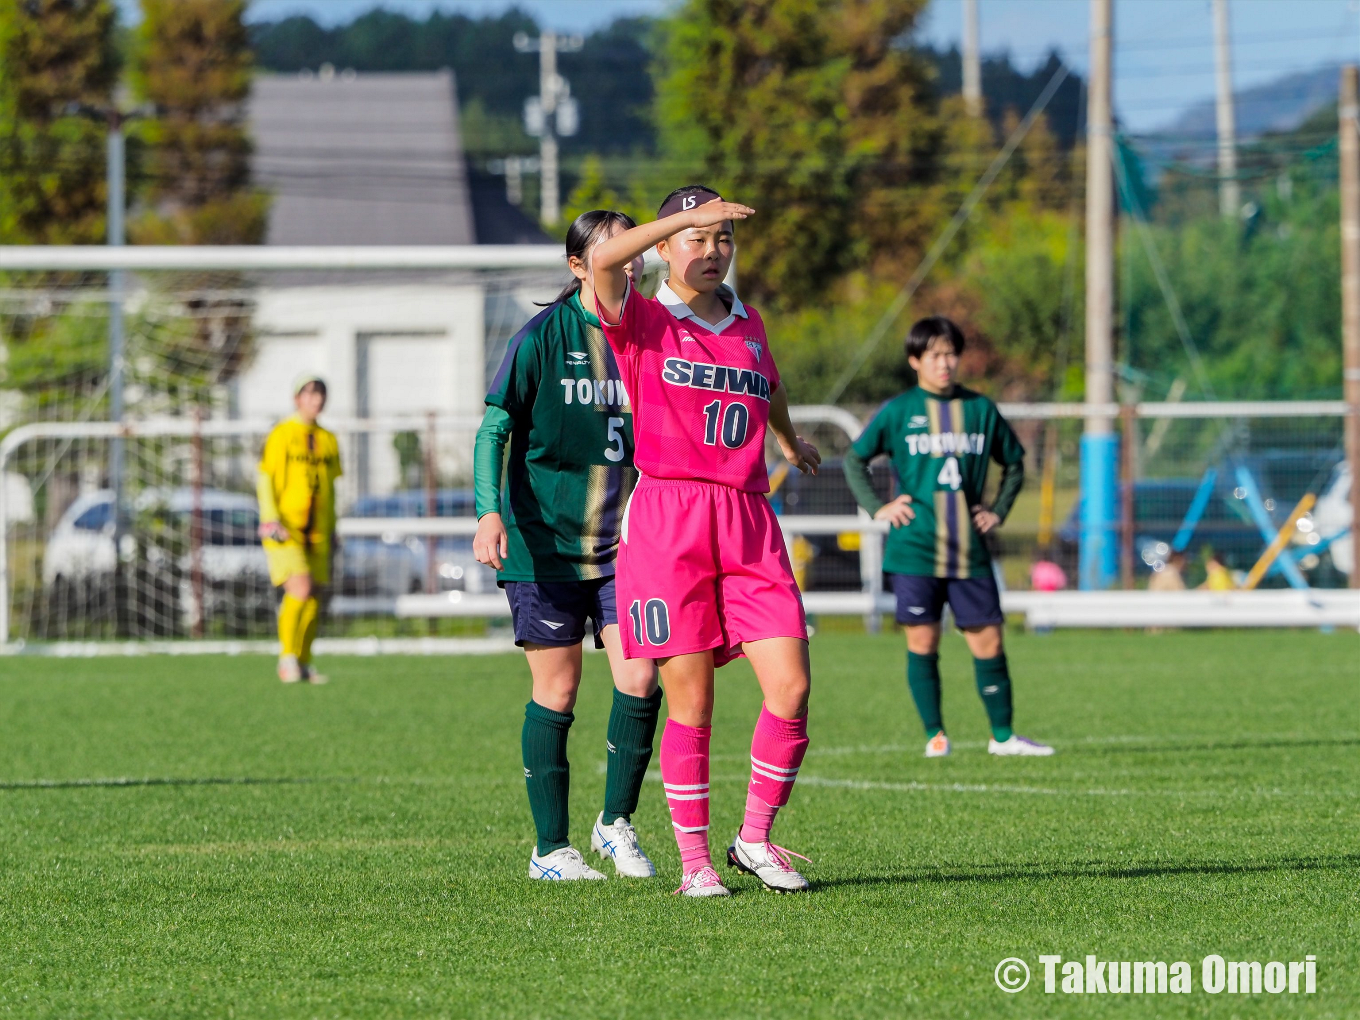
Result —
[[245, 0], [143, 0], [133, 84], [156, 107], [139, 243], [264, 239], [268, 199], [250, 186], [245, 129], [252, 56]]

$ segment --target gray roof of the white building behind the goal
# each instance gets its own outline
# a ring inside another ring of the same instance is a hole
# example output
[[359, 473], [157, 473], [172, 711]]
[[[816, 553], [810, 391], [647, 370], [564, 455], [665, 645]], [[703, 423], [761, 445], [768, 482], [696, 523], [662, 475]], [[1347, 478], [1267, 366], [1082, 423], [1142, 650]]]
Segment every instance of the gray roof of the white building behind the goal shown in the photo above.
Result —
[[261, 75], [250, 131], [265, 243], [476, 243], [453, 72]]

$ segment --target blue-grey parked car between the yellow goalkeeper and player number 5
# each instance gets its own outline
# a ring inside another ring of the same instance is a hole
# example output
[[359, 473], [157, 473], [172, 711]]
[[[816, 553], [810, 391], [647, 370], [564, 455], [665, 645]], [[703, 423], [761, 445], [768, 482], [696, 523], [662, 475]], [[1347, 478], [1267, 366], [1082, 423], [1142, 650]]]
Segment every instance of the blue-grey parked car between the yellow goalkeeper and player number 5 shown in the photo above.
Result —
[[[384, 496], [360, 496], [348, 517], [424, 517], [426, 492], [407, 490]], [[472, 490], [446, 488], [435, 492], [435, 517], [476, 515]], [[396, 597], [428, 590], [427, 539], [423, 534], [354, 536], [344, 540], [340, 554], [340, 593], [358, 597]], [[472, 555], [472, 537], [435, 539], [434, 570], [437, 592], [491, 592], [496, 573]]]

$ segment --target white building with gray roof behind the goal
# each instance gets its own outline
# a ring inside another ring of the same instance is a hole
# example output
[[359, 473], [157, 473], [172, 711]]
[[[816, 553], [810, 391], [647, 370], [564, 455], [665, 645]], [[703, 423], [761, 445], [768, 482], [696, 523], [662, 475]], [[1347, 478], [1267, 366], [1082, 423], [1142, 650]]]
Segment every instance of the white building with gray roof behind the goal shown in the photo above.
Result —
[[[479, 239], [449, 71], [261, 76], [250, 131], [256, 181], [273, 196], [269, 245]], [[496, 211], [502, 222], [506, 211]], [[545, 239], [534, 231], [530, 226], [518, 239]], [[292, 378], [314, 371], [326, 379], [333, 416], [480, 416], [488, 354], [495, 355], [488, 348], [499, 340], [503, 350], [532, 314], [530, 298], [551, 298], [554, 283], [540, 275], [513, 294], [496, 287], [490, 295], [488, 282], [471, 273], [265, 277], [257, 291], [257, 355], [237, 382], [235, 413], [282, 418], [291, 408]], [[490, 344], [488, 306], [498, 320]], [[390, 438], [347, 446], [347, 496], [403, 487]], [[471, 434], [441, 437], [441, 475], [471, 477]]]

